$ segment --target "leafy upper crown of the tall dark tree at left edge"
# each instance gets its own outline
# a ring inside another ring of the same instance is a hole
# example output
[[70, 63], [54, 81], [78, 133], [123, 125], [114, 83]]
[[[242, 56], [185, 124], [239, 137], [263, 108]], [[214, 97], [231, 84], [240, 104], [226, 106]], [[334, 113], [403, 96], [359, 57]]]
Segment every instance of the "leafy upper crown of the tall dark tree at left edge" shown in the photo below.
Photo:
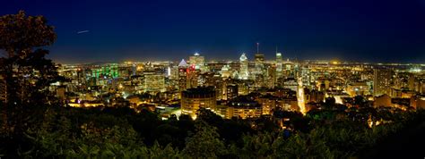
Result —
[[[33, 103], [39, 93], [56, 79], [54, 63], [45, 58], [56, 33], [43, 16], [26, 16], [23, 11], [0, 17], [0, 70], [7, 86], [6, 105]], [[39, 100], [35, 100], [39, 101]], [[15, 104], [16, 103], [16, 104]]]

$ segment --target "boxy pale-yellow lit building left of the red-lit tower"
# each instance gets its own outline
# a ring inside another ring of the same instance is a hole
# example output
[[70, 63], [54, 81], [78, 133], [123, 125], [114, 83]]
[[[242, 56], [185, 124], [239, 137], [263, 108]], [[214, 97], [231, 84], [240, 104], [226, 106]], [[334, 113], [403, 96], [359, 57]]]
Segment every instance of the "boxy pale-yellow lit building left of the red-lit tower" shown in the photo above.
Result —
[[145, 71], [144, 75], [144, 92], [165, 92], [165, 78], [164, 74], [155, 71]]

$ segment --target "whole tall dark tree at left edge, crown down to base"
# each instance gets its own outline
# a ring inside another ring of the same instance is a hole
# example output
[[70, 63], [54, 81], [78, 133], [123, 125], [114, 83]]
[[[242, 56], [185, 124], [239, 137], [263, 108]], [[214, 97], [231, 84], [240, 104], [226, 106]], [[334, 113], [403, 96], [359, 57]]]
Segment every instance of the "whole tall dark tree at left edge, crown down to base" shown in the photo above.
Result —
[[[30, 125], [42, 119], [44, 105], [53, 96], [48, 86], [59, 78], [55, 63], [45, 58], [56, 40], [54, 27], [43, 16], [27, 16], [23, 11], [0, 17], [0, 75], [5, 81], [5, 100], [2, 101], [4, 138], [22, 138]], [[7, 139], [4, 139], [7, 140]], [[11, 142], [13, 145], [20, 141]]]

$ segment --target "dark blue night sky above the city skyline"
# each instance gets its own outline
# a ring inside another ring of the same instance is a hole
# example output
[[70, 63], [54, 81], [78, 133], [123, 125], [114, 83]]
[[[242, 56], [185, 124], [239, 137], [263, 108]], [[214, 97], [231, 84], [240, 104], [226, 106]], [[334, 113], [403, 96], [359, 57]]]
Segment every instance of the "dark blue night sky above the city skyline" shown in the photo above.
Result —
[[[57, 63], [267, 59], [425, 63], [425, 0], [2, 0], [56, 26]], [[84, 31], [88, 30], [88, 31]], [[78, 33], [79, 31], [82, 31]]]

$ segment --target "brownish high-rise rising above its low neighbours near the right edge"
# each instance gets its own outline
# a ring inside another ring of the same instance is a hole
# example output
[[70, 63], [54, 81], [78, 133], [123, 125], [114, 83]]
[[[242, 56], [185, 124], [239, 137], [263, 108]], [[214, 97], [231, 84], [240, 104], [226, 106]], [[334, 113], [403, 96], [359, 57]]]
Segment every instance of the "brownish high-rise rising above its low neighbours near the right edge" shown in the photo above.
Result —
[[392, 71], [387, 69], [373, 70], [373, 95], [391, 95]]

